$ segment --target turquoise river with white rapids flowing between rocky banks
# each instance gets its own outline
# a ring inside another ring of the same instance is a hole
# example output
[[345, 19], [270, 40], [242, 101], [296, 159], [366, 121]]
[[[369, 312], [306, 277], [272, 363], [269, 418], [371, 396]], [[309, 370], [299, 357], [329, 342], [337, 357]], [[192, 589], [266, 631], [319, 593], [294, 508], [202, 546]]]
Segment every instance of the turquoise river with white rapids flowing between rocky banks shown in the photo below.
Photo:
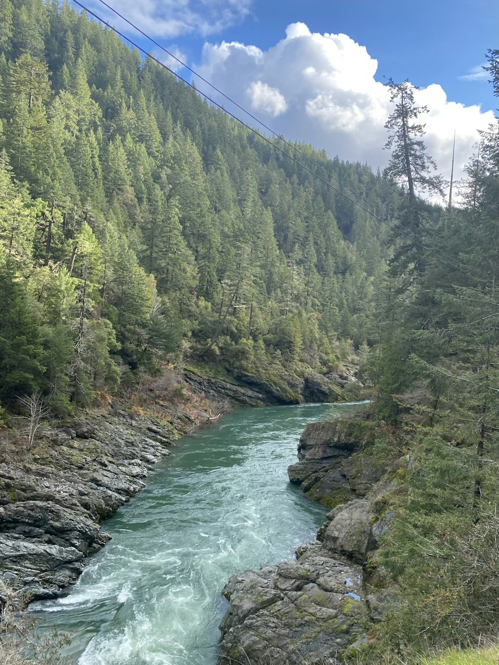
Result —
[[226, 581], [293, 559], [327, 513], [287, 479], [301, 432], [356, 409], [239, 409], [182, 438], [106, 521], [112, 540], [71, 594], [31, 612], [72, 633], [66, 653], [79, 665], [214, 665]]

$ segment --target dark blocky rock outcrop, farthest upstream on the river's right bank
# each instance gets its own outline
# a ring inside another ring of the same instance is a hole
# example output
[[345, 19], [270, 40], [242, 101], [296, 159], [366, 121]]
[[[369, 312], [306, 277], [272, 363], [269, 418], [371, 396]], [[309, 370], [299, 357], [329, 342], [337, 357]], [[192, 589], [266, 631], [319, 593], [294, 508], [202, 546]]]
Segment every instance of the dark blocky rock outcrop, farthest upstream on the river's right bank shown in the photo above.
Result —
[[367, 430], [359, 418], [338, 418], [307, 425], [289, 480], [328, 508], [364, 497], [382, 475], [365, 455]]

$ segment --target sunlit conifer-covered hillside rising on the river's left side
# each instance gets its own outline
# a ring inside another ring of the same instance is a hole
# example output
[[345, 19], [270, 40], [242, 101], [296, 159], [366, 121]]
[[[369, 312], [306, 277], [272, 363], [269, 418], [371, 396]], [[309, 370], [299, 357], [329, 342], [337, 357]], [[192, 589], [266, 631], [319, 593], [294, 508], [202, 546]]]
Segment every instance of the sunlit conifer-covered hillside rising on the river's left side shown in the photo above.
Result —
[[[0, 19], [4, 405], [64, 415], [166, 354], [277, 376], [367, 348], [385, 226], [69, 3]], [[393, 216], [380, 174], [299, 148]]]

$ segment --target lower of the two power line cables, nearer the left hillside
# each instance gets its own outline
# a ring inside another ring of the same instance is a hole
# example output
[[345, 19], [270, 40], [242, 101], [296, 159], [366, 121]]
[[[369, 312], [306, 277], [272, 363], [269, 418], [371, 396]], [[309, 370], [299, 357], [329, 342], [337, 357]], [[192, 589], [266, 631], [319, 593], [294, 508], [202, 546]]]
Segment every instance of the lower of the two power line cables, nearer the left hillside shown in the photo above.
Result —
[[[305, 169], [305, 171], [309, 172], [309, 174], [311, 174], [315, 178], [318, 178], [319, 180], [321, 180], [321, 182], [323, 182], [327, 187], [331, 188], [335, 192], [338, 192], [338, 194], [341, 194], [341, 196], [343, 196], [346, 199], [348, 199], [349, 201], [351, 201], [351, 203], [353, 203], [354, 205], [357, 205], [357, 207], [359, 207], [362, 210], [364, 210], [365, 212], [367, 212], [368, 215], [371, 215], [371, 217], [373, 217], [374, 219], [377, 219], [378, 221], [381, 221], [381, 223], [385, 224], [387, 227], [392, 229], [392, 231], [394, 231], [395, 233], [399, 233], [400, 235], [403, 235], [405, 238], [407, 238], [409, 240], [409, 242], [411, 242], [415, 245], [418, 245], [419, 247], [421, 247], [422, 249], [424, 249], [428, 253], [432, 254], [434, 257], [436, 257], [440, 261], [443, 261], [444, 263], [447, 263], [454, 270], [462, 271], [460, 269], [459, 263], [458, 263], [458, 261], [456, 261], [456, 259], [454, 259], [453, 257], [450, 257], [450, 255], [449, 255], [449, 258], [450, 258], [450, 261], [449, 261], [448, 259], [446, 259], [444, 257], [444, 253], [442, 253], [442, 255], [436, 254], [434, 251], [432, 251], [431, 249], [429, 249], [428, 247], [423, 245], [422, 242], [420, 242], [418, 239], [416, 239], [417, 236], [412, 238], [409, 235], [407, 235], [407, 233], [403, 233], [403, 231], [401, 231], [401, 229], [397, 229], [397, 227], [393, 226], [393, 224], [389, 223], [386, 219], [383, 219], [382, 217], [379, 217], [379, 215], [373, 213], [373, 211], [369, 210], [367, 207], [364, 207], [358, 201], [355, 201], [354, 199], [350, 198], [349, 196], [347, 196], [347, 194], [345, 194], [345, 192], [341, 192], [341, 190], [336, 188], [334, 185], [332, 185], [330, 182], [328, 182], [324, 178], [321, 178], [321, 176], [319, 176], [319, 174], [317, 174], [314, 171], [312, 171], [311, 169], [309, 169], [307, 166], [305, 166], [305, 164], [301, 164], [301, 162], [299, 162], [292, 155], [289, 155], [287, 152], [282, 150], [282, 148], [279, 148], [279, 146], [277, 146], [274, 142], [272, 142], [269, 138], [267, 138], [267, 136], [265, 136], [264, 134], [260, 134], [260, 132], [258, 130], [256, 130], [255, 128], [249, 126], [246, 122], [244, 122], [244, 120], [241, 120], [241, 118], [238, 118], [238, 116], [234, 115], [234, 113], [228, 111], [226, 108], [224, 108], [224, 106], [222, 106], [222, 104], [219, 104], [218, 102], [216, 102], [206, 92], [202, 92], [202, 90], [199, 90], [198, 88], [196, 88], [196, 86], [194, 84], [190, 83], [188, 80], [186, 80], [185, 78], [180, 76], [180, 74], [178, 74], [177, 72], [172, 70], [170, 67], [168, 67], [167, 65], [162, 63], [160, 60], [158, 60], [158, 58], [154, 57], [154, 55], [151, 55], [150, 53], [148, 53], [146, 51], [146, 49], [143, 49], [136, 42], [134, 42], [132, 39], [130, 39], [130, 37], [126, 37], [126, 35], [124, 35], [124, 33], [120, 32], [116, 27], [110, 25], [110, 23], [108, 23], [107, 21], [104, 21], [104, 19], [102, 19], [102, 17], [100, 17], [98, 14], [96, 14], [91, 9], [88, 9], [88, 7], [83, 5], [83, 3], [81, 3], [79, 0], [73, 0], [73, 2], [75, 3], [75, 5], [78, 5], [79, 7], [81, 7], [81, 9], [86, 11], [86, 13], [93, 16], [97, 21], [100, 21], [100, 23], [102, 23], [103, 25], [106, 25], [106, 27], [108, 27], [110, 30], [112, 30], [114, 33], [116, 33], [116, 35], [119, 35], [120, 37], [122, 37], [122, 39], [126, 39], [126, 41], [128, 41], [128, 43], [130, 43], [135, 49], [140, 51], [140, 53], [143, 53], [146, 57], [150, 58], [152, 61], [154, 61], [155, 63], [160, 65], [162, 68], [166, 69], [168, 72], [170, 72], [170, 74], [173, 74], [174, 76], [176, 76], [176, 78], [178, 78], [179, 80], [184, 82], [187, 86], [192, 88], [192, 90], [194, 90], [198, 94], [202, 95], [204, 98], [206, 98], [212, 104], [214, 104], [214, 106], [217, 106], [218, 108], [220, 108], [220, 110], [222, 110], [224, 113], [228, 114], [228, 116], [230, 116], [231, 118], [234, 118], [234, 120], [236, 120], [237, 122], [242, 124], [242, 126], [246, 127], [246, 129], [248, 129], [250, 132], [253, 132], [253, 134], [255, 134], [256, 136], [261, 138], [261, 140], [268, 143], [272, 148], [274, 148], [275, 150], [277, 150], [278, 152], [283, 154], [285, 157], [287, 157], [290, 160], [292, 160], [293, 162], [295, 162], [295, 164], [298, 164], [298, 166], [301, 166], [301, 168]], [[409, 229], [407, 229], [407, 230], [409, 230]], [[409, 233], [412, 233], [412, 231], [409, 231]], [[442, 251], [438, 248], [436, 248], [436, 249], [437, 249], [437, 251]]]

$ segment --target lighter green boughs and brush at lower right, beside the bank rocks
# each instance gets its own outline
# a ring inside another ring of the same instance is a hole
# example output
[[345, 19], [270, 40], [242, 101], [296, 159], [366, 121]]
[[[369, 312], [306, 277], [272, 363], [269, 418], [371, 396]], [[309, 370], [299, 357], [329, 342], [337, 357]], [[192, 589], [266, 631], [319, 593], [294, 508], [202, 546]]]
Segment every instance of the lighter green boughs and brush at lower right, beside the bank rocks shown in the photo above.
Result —
[[[424, 652], [494, 628], [499, 523], [495, 505], [476, 502], [478, 467], [470, 456], [429, 437], [411, 454], [407, 493], [391, 507], [393, 523], [377, 553], [397, 584], [395, 608], [379, 626], [384, 648]], [[486, 475], [483, 493], [498, 481], [495, 467]]]

